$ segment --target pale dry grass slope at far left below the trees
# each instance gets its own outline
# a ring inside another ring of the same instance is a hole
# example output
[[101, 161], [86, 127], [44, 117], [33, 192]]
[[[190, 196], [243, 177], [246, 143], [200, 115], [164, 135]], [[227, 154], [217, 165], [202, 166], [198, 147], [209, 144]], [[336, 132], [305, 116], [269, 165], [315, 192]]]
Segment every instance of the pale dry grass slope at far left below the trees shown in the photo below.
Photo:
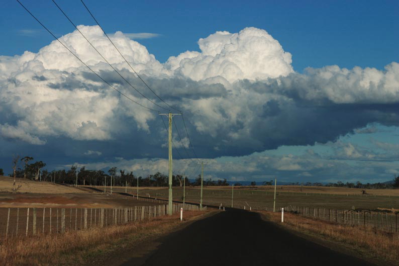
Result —
[[[14, 179], [8, 176], [0, 176], [0, 192], [11, 193], [13, 192]], [[36, 182], [29, 179], [17, 179], [16, 180], [18, 193], [43, 193], [47, 194], [62, 194], [62, 193], [86, 193], [82, 190], [75, 189], [73, 187], [67, 187], [62, 185], [52, 184], [50, 182]]]

